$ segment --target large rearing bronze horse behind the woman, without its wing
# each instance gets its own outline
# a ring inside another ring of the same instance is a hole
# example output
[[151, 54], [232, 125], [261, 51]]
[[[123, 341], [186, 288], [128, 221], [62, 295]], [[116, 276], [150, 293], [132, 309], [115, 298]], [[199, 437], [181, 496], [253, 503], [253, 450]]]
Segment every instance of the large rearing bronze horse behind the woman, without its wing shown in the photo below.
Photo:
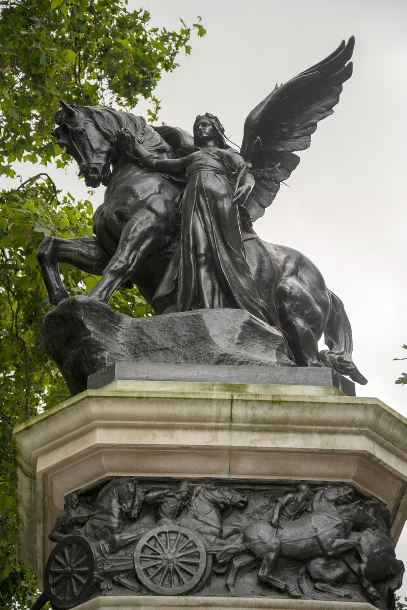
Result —
[[[59, 263], [68, 263], [102, 276], [87, 293], [90, 298], [108, 303], [120, 285], [135, 284], [152, 304], [177, 240], [181, 188], [164, 174], [121, 157], [116, 137], [130, 131], [161, 159], [174, 157], [174, 152], [142, 117], [109, 107], [61, 106], [52, 134], [77, 161], [88, 186], [102, 183], [107, 188], [94, 213], [92, 237], [51, 236], [41, 243], [37, 257], [49, 300], [57, 305], [68, 298], [58, 271]], [[311, 260], [255, 234], [243, 233], [243, 238], [261, 304], [270, 323], [285, 335], [296, 364], [332, 367], [366, 384], [352, 361], [352, 329], [342, 301]], [[319, 351], [322, 334], [329, 349]]]

